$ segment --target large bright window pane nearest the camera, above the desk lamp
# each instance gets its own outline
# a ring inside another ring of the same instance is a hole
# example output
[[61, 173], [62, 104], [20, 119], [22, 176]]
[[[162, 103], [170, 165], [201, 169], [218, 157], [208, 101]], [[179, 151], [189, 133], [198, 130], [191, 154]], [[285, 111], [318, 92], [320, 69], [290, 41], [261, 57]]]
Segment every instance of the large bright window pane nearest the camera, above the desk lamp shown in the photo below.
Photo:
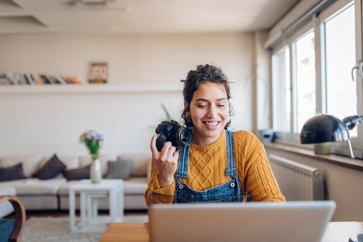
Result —
[[[325, 23], [327, 113], [343, 119], [357, 114], [354, 5]], [[357, 136], [357, 130], [351, 131]]]

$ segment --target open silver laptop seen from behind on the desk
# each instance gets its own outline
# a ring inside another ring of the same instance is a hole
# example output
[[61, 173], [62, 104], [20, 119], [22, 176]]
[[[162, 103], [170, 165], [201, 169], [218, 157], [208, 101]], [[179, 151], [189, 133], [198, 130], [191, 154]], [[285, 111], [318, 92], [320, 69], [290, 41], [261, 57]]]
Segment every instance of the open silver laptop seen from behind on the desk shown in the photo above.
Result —
[[319, 242], [334, 201], [156, 204], [149, 209], [151, 242]]

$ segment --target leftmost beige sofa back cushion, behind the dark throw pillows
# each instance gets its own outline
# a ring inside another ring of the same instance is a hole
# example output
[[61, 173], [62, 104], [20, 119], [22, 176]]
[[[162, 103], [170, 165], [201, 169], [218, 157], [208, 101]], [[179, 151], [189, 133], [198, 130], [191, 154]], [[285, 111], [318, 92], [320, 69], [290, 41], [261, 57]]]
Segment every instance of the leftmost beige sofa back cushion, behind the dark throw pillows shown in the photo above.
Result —
[[13, 167], [23, 163], [23, 174], [25, 177], [32, 176], [36, 171], [41, 160], [39, 154], [4, 156], [0, 158], [1, 167]]

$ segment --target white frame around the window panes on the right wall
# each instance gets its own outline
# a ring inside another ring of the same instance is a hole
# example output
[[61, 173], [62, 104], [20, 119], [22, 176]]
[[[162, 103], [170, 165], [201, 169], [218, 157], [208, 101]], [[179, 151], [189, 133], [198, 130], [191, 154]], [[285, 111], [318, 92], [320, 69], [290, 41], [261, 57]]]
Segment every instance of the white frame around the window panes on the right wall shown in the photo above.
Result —
[[[313, 144], [300, 144], [299, 130], [297, 130], [297, 82], [296, 82], [296, 41], [306, 36], [310, 32], [315, 33], [315, 95], [316, 95], [316, 113], [326, 114], [326, 65], [325, 65], [325, 23], [337, 16], [339, 13], [350, 7], [352, 0], [334, 1], [329, 7], [317, 13], [315, 17], [307, 21], [300, 28], [291, 30], [290, 33], [284, 33], [281, 41], [272, 47], [272, 56], [281, 53], [285, 48], [290, 49], [290, 132], [275, 132], [275, 141], [280, 143], [292, 144], [303, 148], [313, 149]], [[354, 1], [355, 6], [355, 47], [356, 47], [356, 64], [363, 60], [362, 56], [362, 5], [361, 0]], [[273, 60], [272, 60], [273, 61]], [[272, 66], [273, 68], [274, 66]], [[353, 66], [352, 66], [353, 67]], [[273, 70], [274, 71], [274, 70]], [[276, 85], [273, 83], [272, 86]], [[356, 75], [357, 90], [357, 114], [363, 115], [363, 80], [358, 74]], [[272, 93], [273, 94], [273, 93]], [[273, 97], [273, 96], [272, 96]], [[274, 100], [272, 100], [274, 102]], [[272, 105], [274, 107], [274, 103]], [[272, 112], [275, 115], [274, 112]], [[355, 114], [351, 114], [355, 115]], [[273, 116], [273, 122], [276, 117]], [[297, 133], [295, 133], [297, 132]], [[358, 138], [351, 139], [352, 148], [356, 157], [363, 157], [363, 125], [358, 126]], [[331, 143], [331, 152], [344, 156], [349, 156], [347, 142]]]

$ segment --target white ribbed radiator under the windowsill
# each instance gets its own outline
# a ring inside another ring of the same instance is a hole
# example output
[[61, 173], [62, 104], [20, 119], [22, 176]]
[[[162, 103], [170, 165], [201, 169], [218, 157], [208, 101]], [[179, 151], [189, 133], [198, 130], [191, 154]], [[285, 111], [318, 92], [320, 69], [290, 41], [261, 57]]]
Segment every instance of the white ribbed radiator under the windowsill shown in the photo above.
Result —
[[273, 154], [268, 158], [286, 201], [325, 199], [323, 171]]

